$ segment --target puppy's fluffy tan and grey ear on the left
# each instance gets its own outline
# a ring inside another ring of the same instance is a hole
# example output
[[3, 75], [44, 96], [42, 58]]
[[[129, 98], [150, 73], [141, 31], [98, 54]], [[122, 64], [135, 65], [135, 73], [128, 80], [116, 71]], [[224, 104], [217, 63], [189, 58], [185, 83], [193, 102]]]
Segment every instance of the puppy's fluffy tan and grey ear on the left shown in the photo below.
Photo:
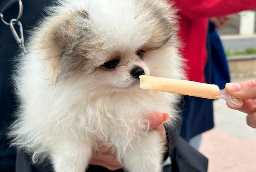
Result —
[[55, 76], [63, 72], [61, 71], [63, 55], [72, 51], [72, 47], [79, 40], [78, 20], [87, 17], [88, 14], [84, 11], [52, 16], [48, 17], [39, 28], [40, 34], [37, 38], [40, 43], [39, 49], [45, 53], [45, 61], [52, 65]]

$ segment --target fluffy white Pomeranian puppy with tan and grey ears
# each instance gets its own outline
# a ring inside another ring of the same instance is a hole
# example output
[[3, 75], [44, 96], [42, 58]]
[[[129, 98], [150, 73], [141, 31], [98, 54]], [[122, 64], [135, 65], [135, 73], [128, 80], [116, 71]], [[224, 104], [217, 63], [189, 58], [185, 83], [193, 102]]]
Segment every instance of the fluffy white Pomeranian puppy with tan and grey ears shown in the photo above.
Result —
[[165, 0], [58, 0], [31, 32], [14, 74], [12, 145], [56, 172], [84, 172], [101, 143], [129, 172], [161, 172], [150, 112], [175, 121], [178, 96], [139, 88], [139, 75], [182, 79], [176, 11]]

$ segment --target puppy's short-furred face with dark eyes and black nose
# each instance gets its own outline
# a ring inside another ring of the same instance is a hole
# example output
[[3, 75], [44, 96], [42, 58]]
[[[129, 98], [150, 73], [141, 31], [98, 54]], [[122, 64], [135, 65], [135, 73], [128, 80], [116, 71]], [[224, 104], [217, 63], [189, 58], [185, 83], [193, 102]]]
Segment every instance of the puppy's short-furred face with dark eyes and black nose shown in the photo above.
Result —
[[114, 53], [91, 73], [103, 87], [121, 91], [139, 84], [139, 75], [149, 75], [142, 49]]

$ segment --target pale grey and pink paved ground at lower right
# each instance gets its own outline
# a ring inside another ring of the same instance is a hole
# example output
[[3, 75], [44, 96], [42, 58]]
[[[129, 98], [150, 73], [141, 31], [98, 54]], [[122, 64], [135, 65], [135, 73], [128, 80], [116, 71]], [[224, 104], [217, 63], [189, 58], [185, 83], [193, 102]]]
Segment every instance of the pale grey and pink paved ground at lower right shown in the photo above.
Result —
[[246, 114], [223, 100], [214, 102], [214, 110], [215, 128], [203, 134], [200, 149], [209, 159], [208, 171], [256, 172], [256, 131], [246, 125]]

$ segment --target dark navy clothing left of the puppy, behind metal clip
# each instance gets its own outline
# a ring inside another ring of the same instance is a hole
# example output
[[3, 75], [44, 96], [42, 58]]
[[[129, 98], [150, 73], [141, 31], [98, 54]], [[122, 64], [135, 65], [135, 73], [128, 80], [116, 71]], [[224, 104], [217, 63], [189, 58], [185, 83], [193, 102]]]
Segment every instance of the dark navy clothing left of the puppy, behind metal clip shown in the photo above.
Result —
[[[42, 16], [43, 7], [51, 0], [22, 0], [23, 15], [20, 19], [23, 29], [29, 30]], [[3, 1], [1, 0], [1, 3]], [[18, 3], [12, 5], [4, 12], [6, 21], [16, 18], [19, 11]], [[16, 27], [16, 25], [15, 25]], [[27, 34], [25, 32], [25, 39]], [[18, 45], [11, 33], [10, 27], [0, 20], [0, 172], [14, 172], [16, 150], [8, 148], [6, 139], [7, 127], [14, 120], [13, 113], [16, 103], [10, 77], [13, 68], [13, 59], [18, 51]]]

